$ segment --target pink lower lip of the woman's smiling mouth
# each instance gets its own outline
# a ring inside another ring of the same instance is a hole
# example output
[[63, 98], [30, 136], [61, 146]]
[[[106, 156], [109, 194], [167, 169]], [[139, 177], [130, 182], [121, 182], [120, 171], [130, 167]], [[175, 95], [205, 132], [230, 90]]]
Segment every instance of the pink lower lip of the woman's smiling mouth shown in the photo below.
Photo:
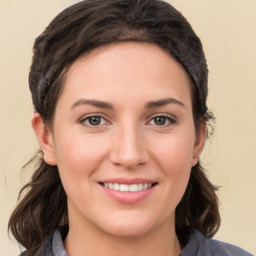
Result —
[[[100, 185], [100, 184], [99, 184]], [[100, 185], [104, 192], [113, 198], [114, 200], [122, 203], [137, 203], [139, 201], [142, 201], [144, 198], [149, 196], [152, 191], [155, 189], [156, 184], [151, 186], [148, 189], [137, 191], [137, 192], [126, 192], [126, 191], [119, 191], [114, 190], [111, 188], [107, 188], [103, 185]]]

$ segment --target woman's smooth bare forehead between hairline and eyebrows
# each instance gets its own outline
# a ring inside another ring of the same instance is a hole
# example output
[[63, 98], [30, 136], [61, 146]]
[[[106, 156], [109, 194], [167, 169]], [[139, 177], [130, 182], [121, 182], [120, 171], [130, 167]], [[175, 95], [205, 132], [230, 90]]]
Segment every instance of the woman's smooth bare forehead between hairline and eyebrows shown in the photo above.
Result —
[[[118, 42], [93, 49], [68, 69], [63, 96], [127, 102], [163, 98], [191, 98], [190, 79], [184, 68], [167, 51], [146, 42]], [[125, 101], [123, 101], [125, 100]], [[184, 100], [184, 99], [183, 99]], [[187, 99], [186, 99], [187, 100]]]

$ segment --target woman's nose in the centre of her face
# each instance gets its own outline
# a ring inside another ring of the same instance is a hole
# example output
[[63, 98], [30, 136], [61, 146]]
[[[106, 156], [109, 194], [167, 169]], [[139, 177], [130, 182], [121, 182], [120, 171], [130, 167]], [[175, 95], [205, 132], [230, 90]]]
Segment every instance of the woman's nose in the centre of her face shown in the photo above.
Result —
[[134, 169], [149, 160], [145, 136], [136, 125], [125, 125], [113, 135], [110, 161], [125, 169]]

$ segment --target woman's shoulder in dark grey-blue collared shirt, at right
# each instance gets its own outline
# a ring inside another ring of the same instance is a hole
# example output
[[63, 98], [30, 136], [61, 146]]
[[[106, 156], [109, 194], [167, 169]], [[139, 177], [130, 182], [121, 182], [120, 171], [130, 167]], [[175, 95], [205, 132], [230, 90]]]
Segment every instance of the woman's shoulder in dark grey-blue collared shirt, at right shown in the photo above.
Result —
[[252, 256], [251, 253], [230, 243], [204, 237], [192, 231], [180, 256]]

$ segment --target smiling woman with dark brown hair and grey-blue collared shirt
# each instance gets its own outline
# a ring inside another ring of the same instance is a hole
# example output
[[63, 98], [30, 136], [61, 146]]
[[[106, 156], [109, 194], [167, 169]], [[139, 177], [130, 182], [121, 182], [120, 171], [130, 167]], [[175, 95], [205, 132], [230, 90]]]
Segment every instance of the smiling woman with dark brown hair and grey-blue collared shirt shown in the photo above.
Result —
[[250, 255], [208, 239], [207, 65], [180, 12], [70, 6], [36, 38], [29, 88], [38, 166], [9, 220], [23, 255]]

